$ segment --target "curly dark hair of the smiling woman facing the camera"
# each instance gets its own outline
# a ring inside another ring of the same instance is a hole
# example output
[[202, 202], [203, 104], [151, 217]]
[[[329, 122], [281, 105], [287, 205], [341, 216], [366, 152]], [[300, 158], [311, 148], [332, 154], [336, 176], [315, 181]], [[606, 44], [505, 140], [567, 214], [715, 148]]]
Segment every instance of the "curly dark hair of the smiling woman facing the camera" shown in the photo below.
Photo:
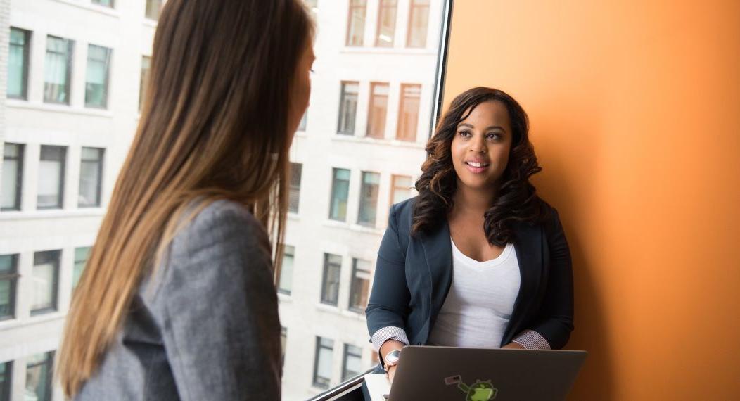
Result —
[[427, 158], [421, 166], [422, 175], [416, 182], [419, 197], [414, 205], [411, 235], [429, 232], [447, 218], [457, 190], [457, 175], [452, 165], [451, 144], [457, 125], [468, 118], [473, 109], [485, 101], [500, 101], [508, 110], [514, 135], [508, 164], [503, 172], [494, 205], [485, 212], [483, 230], [488, 243], [505, 246], [514, 242], [511, 223], [523, 221], [540, 223], [545, 220], [548, 207], [537, 196], [529, 178], [542, 171], [529, 141], [527, 113], [519, 103], [502, 90], [476, 87], [462, 92], [450, 104], [437, 131], [426, 144]]

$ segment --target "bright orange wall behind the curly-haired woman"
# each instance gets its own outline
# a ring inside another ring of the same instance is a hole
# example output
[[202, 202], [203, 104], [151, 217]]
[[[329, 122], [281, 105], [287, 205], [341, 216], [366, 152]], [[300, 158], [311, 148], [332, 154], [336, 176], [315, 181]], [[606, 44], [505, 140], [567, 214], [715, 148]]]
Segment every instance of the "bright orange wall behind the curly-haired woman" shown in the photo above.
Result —
[[571, 243], [571, 399], [739, 400], [740, 1], [457, 0], [445, 106], [477, 85]]

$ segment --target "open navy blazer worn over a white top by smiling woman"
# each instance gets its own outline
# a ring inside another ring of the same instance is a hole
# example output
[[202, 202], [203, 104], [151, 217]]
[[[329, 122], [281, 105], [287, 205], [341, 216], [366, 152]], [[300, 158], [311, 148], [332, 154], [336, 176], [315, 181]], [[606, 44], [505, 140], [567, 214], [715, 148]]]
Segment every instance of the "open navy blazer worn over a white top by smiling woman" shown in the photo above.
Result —
[[[370, 335], [400, 327], [412, 345], [425, 345], [452, 282], [452, 246], [445, 219], [434, 232], [411, 237], [416, 198], [391, 206], [366, 309]], [[542, 224], [515, 223], [521, 284], [501, 346], [525, 329], [562, 348], [573, 331], [571, 252], [554, 208]]]

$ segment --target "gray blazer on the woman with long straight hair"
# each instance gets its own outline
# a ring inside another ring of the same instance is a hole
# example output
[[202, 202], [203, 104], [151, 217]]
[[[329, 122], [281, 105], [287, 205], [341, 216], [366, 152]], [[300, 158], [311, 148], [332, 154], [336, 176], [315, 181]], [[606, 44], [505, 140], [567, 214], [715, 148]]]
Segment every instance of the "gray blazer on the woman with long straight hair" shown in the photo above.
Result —
[[280, 321], [265, 230], [217, 201], [169, 246], [75, 400], [280, 400]]

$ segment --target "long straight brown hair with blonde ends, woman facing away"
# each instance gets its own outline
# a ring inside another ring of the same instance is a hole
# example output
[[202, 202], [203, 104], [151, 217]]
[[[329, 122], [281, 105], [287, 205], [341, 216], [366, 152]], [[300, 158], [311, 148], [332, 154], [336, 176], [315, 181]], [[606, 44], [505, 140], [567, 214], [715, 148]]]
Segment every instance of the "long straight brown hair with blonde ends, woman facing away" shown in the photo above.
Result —
[[181, 218], [218, 199], [242, 203], [280, 265], [291, 90], [313, 29], [299, 0], [167, 1], [141, 121], [67, 316], [67, 397], [98, 368]]

